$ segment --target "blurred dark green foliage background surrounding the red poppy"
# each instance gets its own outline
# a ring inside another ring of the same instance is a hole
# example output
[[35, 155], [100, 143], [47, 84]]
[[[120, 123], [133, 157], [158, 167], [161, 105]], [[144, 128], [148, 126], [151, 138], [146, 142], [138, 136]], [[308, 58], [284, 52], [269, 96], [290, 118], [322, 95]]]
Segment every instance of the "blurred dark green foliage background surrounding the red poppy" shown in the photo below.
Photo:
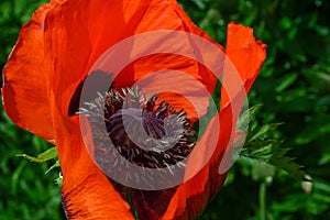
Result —
[[[0, 65], [21, 26], [44, 1], [1, 0]], [[330, 1], [182, 0], [189, 16], [222, 45], [230, 21], [254, 29], [268, 45], [267, 59], [250, 94], [262, 103], [255, 122], [284, 122], [274, 139], [304, 165], [312, 187], [279, 169], [239, 160], [226, 186], [199, 219], [330, 219]], [[224, 45], [226, 46], [226, 45]], [[1, 78], [2, 80], [2, 78]], [[0, 107], [0, 219], [64, 219], [59, 170], [52, 162], [31, 163], [16, 154], [37, 155], [50, 145], [16, 128]]]

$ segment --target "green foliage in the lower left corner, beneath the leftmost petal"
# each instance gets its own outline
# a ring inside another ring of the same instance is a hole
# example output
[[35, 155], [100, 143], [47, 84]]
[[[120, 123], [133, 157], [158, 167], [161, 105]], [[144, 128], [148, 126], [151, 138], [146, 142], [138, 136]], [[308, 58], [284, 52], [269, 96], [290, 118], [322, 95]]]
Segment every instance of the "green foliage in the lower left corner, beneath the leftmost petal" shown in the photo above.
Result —
[[59, 170], [45, 175], [50, 163], [15, 156], [43, 152], [50, 144], [16, 128], [3, 111], [0, 119], [0, 219], [62, 219], [61, 189], [54, 183]]

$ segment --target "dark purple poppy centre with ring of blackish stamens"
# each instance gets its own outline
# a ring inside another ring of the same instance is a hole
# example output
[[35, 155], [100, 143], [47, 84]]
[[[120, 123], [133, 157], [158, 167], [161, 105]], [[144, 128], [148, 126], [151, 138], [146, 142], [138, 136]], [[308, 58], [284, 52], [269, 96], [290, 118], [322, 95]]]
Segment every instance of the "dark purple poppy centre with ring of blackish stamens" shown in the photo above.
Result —
[[[170, 173], [173, 165], [185, 166], [184, 160], [196, 139], [185, 111], [176, 111], [167, 101], [157, 103], [158, 95], [147, 98], [138, 88], [122, 92], [110, 89], [105, 96], [98, 95], [79, 113], [89, 119], [95, 158], [103, 170], [117, 169], [123, 160], [140, 167], [167, 168]], [[120, 156], [111, 152], [113, 148]]]

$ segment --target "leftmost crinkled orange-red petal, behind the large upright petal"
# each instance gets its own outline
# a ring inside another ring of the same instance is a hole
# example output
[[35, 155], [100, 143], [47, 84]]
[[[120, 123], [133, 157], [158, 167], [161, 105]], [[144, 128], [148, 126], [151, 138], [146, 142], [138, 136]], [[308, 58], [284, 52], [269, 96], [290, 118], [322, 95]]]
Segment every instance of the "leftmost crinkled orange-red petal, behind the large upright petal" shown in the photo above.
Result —
[[52, 4], [42, 6], [23, 26], [3, 68], [3, 106], [18, 125], [46, 140], [54, 139], [48, 72], [44, 66], [44, 19]]

